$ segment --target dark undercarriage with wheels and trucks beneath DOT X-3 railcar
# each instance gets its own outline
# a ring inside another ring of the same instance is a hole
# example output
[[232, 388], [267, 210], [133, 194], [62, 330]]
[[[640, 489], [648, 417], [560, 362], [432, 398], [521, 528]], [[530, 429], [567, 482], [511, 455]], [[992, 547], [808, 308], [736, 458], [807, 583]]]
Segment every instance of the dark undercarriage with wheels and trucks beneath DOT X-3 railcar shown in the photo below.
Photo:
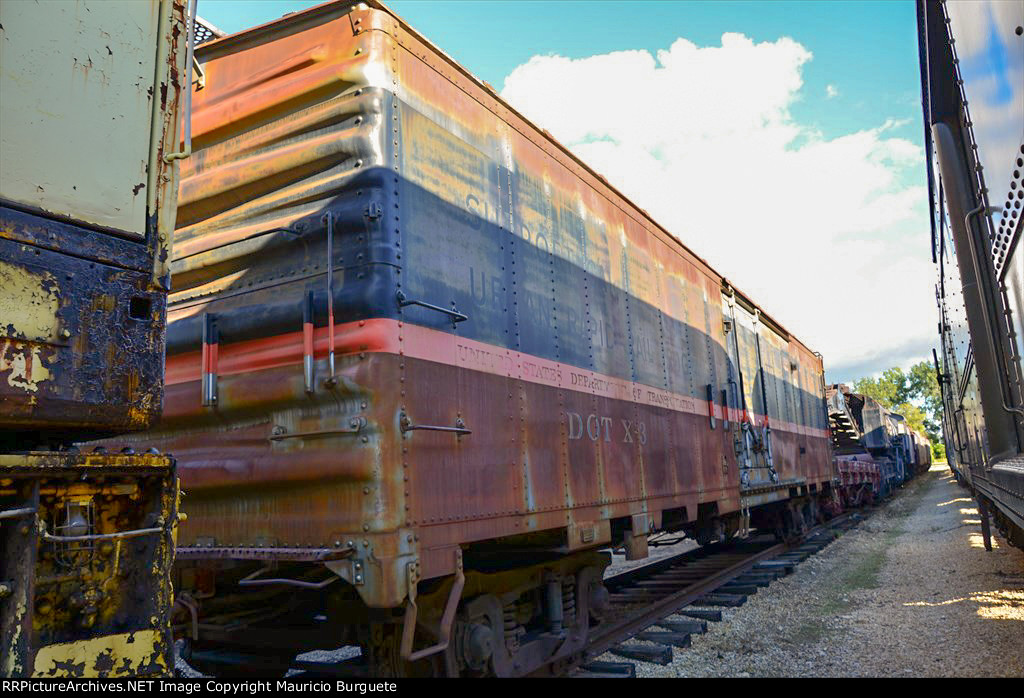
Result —
[[[826, 518], [829, 499], [830, 492], [818, 492], [664, 532], [714, 546], [745, 537], [753, 522], [792, 542]], [[560, 663], [579, 658], [609, 611], [602, 582], [608, 551], [470, 546], [456, 553], [454, 575], [417, 582], [411, 565], [409, 596], [393, 608], [369, 606], [359, 585], [328, 563], [188, 557], [176, 569], [173, 629], [184, 639], [182, 658], [218, 677], [283, 677], [302, 665], [299, 655], [342, 647], [359, 649], [333, 667], [342, 674], [557, 673]]]

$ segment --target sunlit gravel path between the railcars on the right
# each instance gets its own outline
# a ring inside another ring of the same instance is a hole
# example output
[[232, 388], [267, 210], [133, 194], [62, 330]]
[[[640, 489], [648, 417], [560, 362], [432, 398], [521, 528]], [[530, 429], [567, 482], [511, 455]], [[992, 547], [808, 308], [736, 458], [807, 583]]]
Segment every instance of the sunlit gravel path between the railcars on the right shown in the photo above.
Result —
[[[1024, 677], [1024, 553], [943, 465], [649, 677]], [[608, 657], [611, 659], [611, 657]]]

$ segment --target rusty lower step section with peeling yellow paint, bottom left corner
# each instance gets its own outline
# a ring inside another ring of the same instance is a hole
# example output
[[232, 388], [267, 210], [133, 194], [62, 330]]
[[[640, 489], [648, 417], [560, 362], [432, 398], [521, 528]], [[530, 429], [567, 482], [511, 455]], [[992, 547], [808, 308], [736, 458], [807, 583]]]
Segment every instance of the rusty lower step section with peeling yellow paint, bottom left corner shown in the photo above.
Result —
[[0, 672], [170, 673], [177, 492], [167, 456], [0, 455]]

